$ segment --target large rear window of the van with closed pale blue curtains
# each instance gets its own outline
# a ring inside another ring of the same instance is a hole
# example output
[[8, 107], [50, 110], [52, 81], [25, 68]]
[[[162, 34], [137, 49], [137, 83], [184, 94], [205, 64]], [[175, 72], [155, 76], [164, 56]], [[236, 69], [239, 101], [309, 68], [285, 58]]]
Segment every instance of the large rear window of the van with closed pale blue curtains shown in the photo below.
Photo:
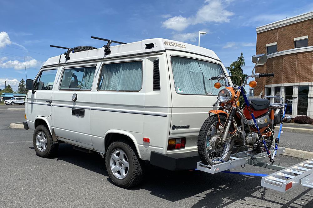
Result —
[[[224, 74], [221, 65], [212, 62], [171, 57], [175, 90], [178, 94], [217, 95], [220, 89], [214, 87], [213, 76]], [[220, 81], [225, 84], [224, 80]]]

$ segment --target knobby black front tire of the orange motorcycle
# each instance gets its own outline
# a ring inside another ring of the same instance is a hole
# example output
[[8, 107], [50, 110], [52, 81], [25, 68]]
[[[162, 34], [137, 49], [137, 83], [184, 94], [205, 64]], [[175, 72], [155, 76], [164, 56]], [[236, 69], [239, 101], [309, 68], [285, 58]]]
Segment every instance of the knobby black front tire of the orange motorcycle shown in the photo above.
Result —
[[[226, 122], [226, 116], [224, 115], [219, 115], [219, 119], [222, 123], [222, 125], [224, 125], [224, 123]], [[212, 160], [208, 157], [208, 152], [207, 152], [207, 134], [209, 131], [209, 128], [218, 121], [218, 116], [217, 115], [212, 115], [209, 118], [207, 118], [204, 123], [202, 124], [200, 131], [199, 131], [199, 135], [198, 135], [198, 154], [199, 157], [201, 159], [201, 161], [205, 164], [205, 165], [216, 165], [220, 162], [226, 162], [229, 159], [230, 153], [232, 152], [233, 149], [233, 139], [231, 138], [230, 143], [229, 143], [229, 149], [228, 152], [225, 152], [225, 157], [223, 161], [219, 161], [219, 162], [212, 162]], [[229, 131], [233, 132], [233, 127], [231, 126], [231, 128], [229, 129]]]

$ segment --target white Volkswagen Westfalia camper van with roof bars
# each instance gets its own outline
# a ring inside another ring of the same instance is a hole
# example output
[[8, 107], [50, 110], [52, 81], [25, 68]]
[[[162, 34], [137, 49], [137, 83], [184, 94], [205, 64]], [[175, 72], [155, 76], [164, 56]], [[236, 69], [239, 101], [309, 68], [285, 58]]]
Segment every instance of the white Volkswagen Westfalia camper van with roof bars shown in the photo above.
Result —
[[121, 187], [141, 181], [143, 161], [195, 169], [199, 129], [219, 91], [210, 78], [227, 75], [221, 60], [161, 38], [111, 42], [66, 48], [27, 80], [24, 127], [37, 154], [49, 157], [63, 142], [99, 152]]

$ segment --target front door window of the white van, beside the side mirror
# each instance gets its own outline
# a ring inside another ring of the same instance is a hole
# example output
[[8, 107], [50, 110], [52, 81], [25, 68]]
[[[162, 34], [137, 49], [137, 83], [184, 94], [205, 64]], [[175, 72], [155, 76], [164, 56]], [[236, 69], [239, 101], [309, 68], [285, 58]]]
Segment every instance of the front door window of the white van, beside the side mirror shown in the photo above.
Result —
[[41, 71], [40, 75], [35, 81], [34, 89], [52, 90], [56, 74], [57, 74], [56, 69]]

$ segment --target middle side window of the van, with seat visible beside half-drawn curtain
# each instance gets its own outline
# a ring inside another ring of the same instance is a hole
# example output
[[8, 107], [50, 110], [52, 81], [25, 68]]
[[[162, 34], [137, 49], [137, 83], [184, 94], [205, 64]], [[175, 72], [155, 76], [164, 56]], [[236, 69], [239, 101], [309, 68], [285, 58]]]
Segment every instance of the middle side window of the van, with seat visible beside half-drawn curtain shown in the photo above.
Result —
[[95, 66], [64, 69], [60, 89], [91, 89]]

